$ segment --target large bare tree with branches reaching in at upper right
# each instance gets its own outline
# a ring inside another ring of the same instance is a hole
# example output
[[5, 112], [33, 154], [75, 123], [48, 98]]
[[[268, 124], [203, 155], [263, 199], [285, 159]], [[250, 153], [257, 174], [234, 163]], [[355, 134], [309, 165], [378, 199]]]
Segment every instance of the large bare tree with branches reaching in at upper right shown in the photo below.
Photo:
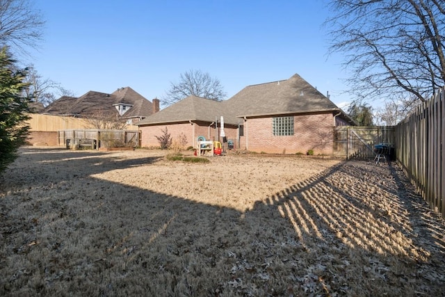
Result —
[[358, 99], [426, 101], [445, 83], [443, 0], [332, 0], [330, 53], [345, 54]]

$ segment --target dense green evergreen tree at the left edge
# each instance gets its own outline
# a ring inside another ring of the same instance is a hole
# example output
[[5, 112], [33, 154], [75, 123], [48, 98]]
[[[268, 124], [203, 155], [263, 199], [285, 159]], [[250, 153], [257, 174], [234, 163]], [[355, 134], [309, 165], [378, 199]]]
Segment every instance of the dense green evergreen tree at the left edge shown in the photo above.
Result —
[[17, 150], [26, 141], [29, 99], [24, 97], [29, 86], [24, 82], [26, 70], [15, 71], [15, 61], [7, 47], [0, 51], [0, 172], [17, 158]]

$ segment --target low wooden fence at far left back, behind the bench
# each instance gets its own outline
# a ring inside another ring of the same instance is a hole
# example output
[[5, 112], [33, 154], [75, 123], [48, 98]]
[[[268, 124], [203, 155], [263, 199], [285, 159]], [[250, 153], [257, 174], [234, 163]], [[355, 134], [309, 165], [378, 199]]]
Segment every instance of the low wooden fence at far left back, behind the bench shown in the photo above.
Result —
[[140, 146], [137, 130], [68, 129], [58, 131], [58, 145], [84, 145], [99, 150], [99, 147]]

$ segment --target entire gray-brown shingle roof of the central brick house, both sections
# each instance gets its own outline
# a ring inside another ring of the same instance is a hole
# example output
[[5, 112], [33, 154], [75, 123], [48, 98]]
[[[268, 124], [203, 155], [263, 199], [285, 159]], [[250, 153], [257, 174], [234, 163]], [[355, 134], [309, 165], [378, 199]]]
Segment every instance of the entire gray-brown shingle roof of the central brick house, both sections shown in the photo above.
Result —
[[[286, 114], [339, 112], [337, 107], [298, 74], [284, 81], [247, 86], [232, 98], [215, 102], [190, 96], [138, 122], [137, 125], [159, 125], [201, 120], [213, 122], [220, 115], [227, 124], [236, 125], [239, 118]], [[350, 120], [346, 113], [341, 117]]]

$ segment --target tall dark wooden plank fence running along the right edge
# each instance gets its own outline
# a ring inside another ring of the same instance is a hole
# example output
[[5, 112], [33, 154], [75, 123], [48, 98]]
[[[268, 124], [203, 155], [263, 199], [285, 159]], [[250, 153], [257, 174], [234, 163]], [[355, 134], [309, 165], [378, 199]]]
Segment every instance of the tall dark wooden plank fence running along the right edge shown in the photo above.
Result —
[[396, 154], [423, 199], [445, 218], [445, 88], [396, 126]]

